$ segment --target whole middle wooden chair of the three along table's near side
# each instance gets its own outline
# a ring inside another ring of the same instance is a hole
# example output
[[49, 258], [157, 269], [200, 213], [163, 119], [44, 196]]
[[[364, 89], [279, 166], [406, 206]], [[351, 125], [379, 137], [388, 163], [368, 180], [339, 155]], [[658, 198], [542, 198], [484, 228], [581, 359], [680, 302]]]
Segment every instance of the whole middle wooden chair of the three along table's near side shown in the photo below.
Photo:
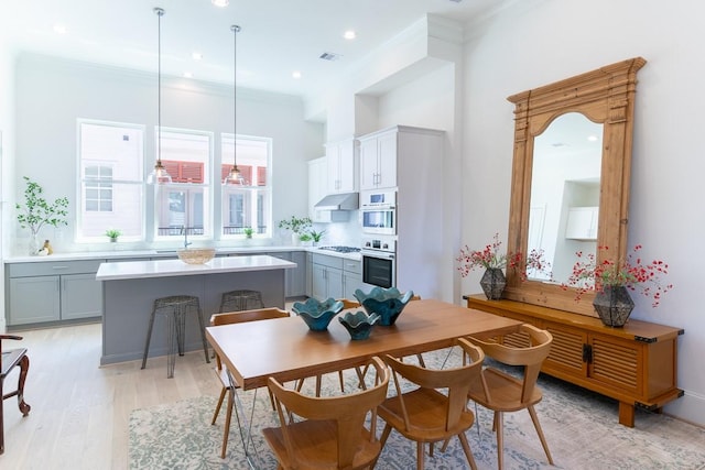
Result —
[[[433, 455], [434, 442], [445, 441], [457, 436], [470, 466], [476, 469], [465, 431], [473, 426], [475, 415], [467, 409], [467, 394], [470, 383], [479, 378], [485, 359], [482, 350], [466, 339], [457, 345], [471, 362], [454, 369], [427, 369], [404, 363], [386, 356], [394, 376], [397, 396], [387, 398], [379, 406], [379, 416], [387, 423], [382, 431], [382, 446], [392, 429], [397, 429], [406, 439], [416, 441], [416, 468], [424, 467], [424, 444], [429, 442]], [[416, 385], [402, 393], [401, 378]]]

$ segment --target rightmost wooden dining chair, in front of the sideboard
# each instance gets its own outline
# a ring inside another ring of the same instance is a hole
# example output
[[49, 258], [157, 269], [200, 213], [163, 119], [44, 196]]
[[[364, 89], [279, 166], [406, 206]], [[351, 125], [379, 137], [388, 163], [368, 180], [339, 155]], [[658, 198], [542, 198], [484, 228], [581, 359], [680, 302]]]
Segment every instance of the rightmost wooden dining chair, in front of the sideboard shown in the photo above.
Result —
[[527, 408], [533, 426], [536, 428], [543, 450], [549, 463], [553, 464], [549, 445], [539, 424], [534, 405], [541, 402], [542, 393], [536, 386], [536, 379], [544, 359], [549, 356], [553, 336], [532, 325], [524, 324], [519, 328], [520, 334], [529, 337], [525, 348], [511, 347], [494, 341], [468, 338], [473, 343], [482, 348], [485, 354], [508, 365], [523, 367], [523, 376], [518, 379], [497, 368], [486, 368], [477, 380], [471, 383], [468, 397], [495, 412], [492, 429], [497, 433], [497, 467], [502, 469], [502, 417], [505, 413]]

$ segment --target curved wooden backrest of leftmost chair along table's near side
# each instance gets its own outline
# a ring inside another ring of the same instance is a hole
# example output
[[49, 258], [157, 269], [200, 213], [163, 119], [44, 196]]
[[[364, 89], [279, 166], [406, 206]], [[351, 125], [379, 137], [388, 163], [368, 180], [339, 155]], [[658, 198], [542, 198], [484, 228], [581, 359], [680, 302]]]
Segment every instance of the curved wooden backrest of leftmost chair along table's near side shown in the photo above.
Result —
[[276, 401], [284, 445], [292, 461], [299, 462], [302, 468], [306, 467], [305, 462], [301, 461], [301, 452], [288, 431], [286, 424], [294, 418], [292, 414], [307, 420], [335, 422], [337, 428], [338, 468], [341, 469], [351, 468], [360, 434], [365, 428], [365, 420], [369, 413], [371, 413], [370, 440], [376, 440], [377, 406], [387, 396], [390, 373], [381, 359], [377, 357], [370, 359], [368, 365], [371, 365], [377, 373], [375, 385], [349, 395], [330, 397], [306, 396], [295, 390], [284, 389], [274, 378], [269, 378], [269, 390], [274, 394]]

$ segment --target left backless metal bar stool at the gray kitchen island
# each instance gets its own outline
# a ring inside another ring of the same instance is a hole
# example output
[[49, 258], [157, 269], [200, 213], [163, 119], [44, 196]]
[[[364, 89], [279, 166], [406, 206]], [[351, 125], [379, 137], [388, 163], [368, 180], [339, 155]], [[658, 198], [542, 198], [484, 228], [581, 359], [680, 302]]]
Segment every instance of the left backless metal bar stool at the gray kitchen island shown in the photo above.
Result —
[[208, 359], [208, 342], [206, 341], [206, 329], [200, 311], [198, 297], [193, 295], [173, 295], [170, 297], [161, 297], [154, 300], [152, 315], [150, 317], [150, 326], [147, 331], [147, 342], [144, 343], [144, 354], [142, 356], [142, 369], [147, 367], [147, 356], [150, 350], [150, 340], [152, 338], [152, 328], [154, 327], [154, 317], [163, 315], [166, 318], [166, 331], [169, 336], [169, 351], [166, 359], [166, 378], [174, 376], [174, 365], [176, 363], [176, 350], [178, 356], [184, 356], [184, 342], [186, 336], [186, 314], [193, 313], [198, 316], [198, 326], [200, 327], [200, 339], [203, 340], [203, 351]]

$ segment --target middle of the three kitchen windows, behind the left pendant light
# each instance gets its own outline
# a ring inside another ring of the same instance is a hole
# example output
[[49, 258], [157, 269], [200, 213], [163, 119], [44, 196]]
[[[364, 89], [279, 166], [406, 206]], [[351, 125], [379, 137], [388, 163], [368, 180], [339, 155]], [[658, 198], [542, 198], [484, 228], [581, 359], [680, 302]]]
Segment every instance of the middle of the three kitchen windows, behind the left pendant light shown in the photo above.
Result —
[[162, 129], [162, 164], [172, 184], [156, 187], [156, 237], [213, 236], [212, 134]]

